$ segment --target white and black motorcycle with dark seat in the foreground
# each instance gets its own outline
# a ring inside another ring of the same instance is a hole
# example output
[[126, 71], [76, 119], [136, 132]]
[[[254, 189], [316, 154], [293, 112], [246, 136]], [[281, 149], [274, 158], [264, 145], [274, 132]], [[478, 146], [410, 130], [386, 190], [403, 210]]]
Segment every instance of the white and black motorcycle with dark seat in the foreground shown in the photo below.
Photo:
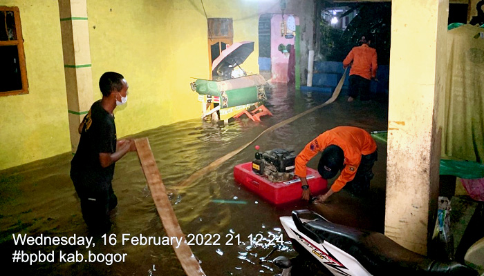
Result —
[[[400, 246], [382, 233], [333, 224], [310, 210], [294, 210], [280, 217], [281, 224], [299, 254], [309, 253], [333, 275], [459, 275], [478, 276], [458, 262], [440, 262]], [[289, 275], [290, 261], [274, 264]]]

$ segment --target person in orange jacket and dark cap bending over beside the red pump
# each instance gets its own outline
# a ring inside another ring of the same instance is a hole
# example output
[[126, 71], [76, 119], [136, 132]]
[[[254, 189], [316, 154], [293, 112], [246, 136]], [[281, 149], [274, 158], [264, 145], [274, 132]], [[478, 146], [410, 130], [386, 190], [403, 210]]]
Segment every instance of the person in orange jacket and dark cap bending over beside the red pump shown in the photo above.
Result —
[[375, 140], [362, 128], [338, 126], [310, 141], [295, 159], [295, 175], [301, 179], [302, 199], [310, 199], [306, 164], [318, 152], [322, 152], [322, 156], [317, 170], [324, 179], [335, 177], [341, 170], [328, 192], [319, 196], [319, 202], [339, 192], [345, 185], [354, 193], [369, 190], [373, 164], [378, 158]]

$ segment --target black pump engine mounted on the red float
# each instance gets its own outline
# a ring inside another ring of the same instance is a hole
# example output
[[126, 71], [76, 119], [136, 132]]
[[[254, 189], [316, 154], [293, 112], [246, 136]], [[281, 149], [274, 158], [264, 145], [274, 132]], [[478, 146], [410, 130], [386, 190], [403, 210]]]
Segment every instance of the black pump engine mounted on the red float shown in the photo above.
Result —
[[293, 150], [275, 148], [266, 152], [256, 152], [252, 161], [252, 171], [266, 176], [272, 182], [287, 181], [294, 177], [296, 155]]

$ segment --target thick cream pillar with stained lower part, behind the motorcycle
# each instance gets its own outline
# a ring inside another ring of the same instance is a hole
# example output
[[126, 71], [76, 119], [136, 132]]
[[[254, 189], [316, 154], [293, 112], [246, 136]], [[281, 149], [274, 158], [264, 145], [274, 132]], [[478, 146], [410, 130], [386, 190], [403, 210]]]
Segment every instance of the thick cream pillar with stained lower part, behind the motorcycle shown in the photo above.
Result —
[[385, 235], [424, 255], [437, 213], [448, 7], [392, 1]]

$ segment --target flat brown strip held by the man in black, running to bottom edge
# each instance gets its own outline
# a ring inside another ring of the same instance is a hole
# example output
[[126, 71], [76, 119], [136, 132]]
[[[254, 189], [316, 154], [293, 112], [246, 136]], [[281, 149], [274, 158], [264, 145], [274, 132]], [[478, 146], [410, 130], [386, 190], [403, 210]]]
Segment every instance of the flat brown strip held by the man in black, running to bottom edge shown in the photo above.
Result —
[[156, 210], [158, 210], [163, 227], [169, 237], [177, 237], [178, 240], [180, 238], [183, 239], [183, 242], [178, 248], [176, 248], [178, 244], [175, 243], [172, 245], [176, 257], [180, 260], [183, 270], [185, 270], [188, 276], [205, 275], [200, 264], [198, 264], [198, 260], [187, 244], [187, 239], [180, 228], [180, 224], [178, 224], [178, 219], [176, 219], [175, 212], [171, 207], [165, 190], [165, 185], [161, 179], [160, 170], [158, 170], [155, 157], [153, 156], [153, 152], [151, 152], [148, 138], [135, 139], [134, 141], [142, 170], [145, 173], [149, 190], [151, 190], [151, 197], [155, 201]]

